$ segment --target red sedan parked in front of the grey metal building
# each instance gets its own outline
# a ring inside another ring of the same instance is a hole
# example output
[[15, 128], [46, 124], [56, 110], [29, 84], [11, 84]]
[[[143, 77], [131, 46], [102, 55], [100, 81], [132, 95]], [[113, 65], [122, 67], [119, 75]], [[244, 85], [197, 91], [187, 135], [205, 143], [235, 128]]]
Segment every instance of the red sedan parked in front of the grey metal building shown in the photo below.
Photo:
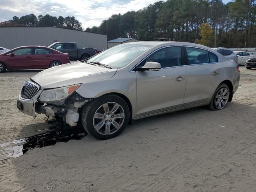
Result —
[[22, 46], [0, 54], [0, 72], [46, 69], [69, 63], [68, 54], [44, 46]]

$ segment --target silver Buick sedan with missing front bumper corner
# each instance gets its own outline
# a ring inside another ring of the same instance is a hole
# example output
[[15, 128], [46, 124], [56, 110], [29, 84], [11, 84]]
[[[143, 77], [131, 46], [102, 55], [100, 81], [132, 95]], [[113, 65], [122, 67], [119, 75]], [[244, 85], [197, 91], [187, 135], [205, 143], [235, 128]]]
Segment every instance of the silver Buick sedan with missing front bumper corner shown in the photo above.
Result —
[[206, 46], [131, 42], [39, 72], [24, 82], [17, 107], [109, 139], [140, 118], [197, 106], [221, 110], [239, 78], [236, 62]]

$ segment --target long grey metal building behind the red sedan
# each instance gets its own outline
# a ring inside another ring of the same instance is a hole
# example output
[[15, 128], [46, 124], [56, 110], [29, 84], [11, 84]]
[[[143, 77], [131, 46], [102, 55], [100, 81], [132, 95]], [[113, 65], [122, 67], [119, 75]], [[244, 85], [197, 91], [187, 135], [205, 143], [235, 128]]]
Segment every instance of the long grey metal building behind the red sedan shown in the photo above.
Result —
[[107, 36], [58, 27], [0, 27], [0, 46], [13, 49], [19, 46], [49, 46], [54, 42], [76, 42], [78, 48], [107, 48]]

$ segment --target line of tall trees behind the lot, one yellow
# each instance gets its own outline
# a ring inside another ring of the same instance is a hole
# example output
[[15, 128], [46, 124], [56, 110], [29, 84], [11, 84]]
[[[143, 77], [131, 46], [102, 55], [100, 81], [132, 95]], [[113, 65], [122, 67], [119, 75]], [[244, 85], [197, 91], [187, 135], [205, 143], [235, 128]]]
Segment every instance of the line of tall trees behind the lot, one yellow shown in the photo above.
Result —
[[[34, 14], [14, 16], [0, 26], [59, 26], [83, 30], [72, 17]], [[86, 32], [106, 34], [108, 40], [136, 38], [196, 42], [210, 47], [256, 47], [256, 0], [167, 0], [125, 14], [113, 14]]]

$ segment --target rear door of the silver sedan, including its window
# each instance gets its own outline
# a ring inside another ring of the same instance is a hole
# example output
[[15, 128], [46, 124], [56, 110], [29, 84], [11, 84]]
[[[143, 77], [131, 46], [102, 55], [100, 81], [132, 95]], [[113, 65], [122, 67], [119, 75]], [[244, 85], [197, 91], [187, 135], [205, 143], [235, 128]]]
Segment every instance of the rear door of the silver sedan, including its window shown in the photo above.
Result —
[[204, 49], [184, 47], [187, 54], [187, 84], [184, 106], [208, 102], [218, 86], [222, 66], [218, 57]]

